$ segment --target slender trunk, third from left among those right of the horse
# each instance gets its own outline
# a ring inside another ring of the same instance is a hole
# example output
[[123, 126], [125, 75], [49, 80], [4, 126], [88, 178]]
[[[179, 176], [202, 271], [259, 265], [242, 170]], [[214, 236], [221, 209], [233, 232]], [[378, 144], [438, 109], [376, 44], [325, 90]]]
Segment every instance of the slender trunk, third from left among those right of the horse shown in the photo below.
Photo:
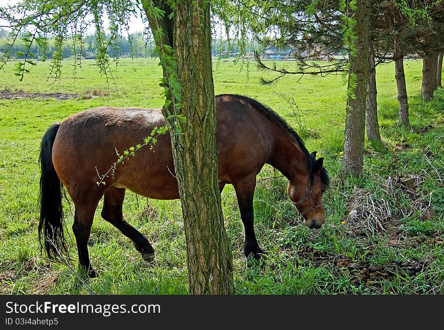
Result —
[[404, 54], [402, 52], [399, 38], [395, 39], [395, 80], [398, 88], [399, 121], [408, 126], [409, 103], [406, 88], [406, 76], [404, 74]]

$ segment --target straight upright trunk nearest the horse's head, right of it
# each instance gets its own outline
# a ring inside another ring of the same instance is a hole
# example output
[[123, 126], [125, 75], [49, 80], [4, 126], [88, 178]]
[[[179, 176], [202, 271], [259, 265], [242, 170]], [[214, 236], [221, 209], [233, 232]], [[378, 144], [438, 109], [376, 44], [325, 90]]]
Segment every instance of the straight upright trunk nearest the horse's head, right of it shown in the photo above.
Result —
[[[358, 176], [364, 160], [365, 108], [370, 41], [370, 1], [358, 0], [355, 14], [356, 55], [350, 56], [342, 172]], [[354, 90], [353, 90], [353, 87]]]

